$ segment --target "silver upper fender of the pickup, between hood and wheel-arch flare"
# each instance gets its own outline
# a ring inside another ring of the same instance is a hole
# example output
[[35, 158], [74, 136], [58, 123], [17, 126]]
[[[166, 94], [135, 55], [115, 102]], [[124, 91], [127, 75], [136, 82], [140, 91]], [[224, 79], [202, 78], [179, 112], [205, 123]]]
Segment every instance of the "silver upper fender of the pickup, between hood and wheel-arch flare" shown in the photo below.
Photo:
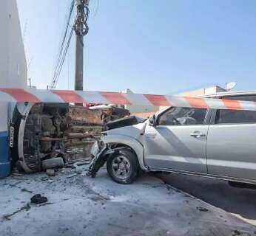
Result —
[[140, 123], [137, 125], [130, 125], [130, 126], [125, 126], [121, 128], [115, 128], [110, 131], [105, 131], [107, 135], [125, 135], [125, 136], [131, 136], [134, 139], [139, 139], [140, 136], [144, 133], [146, 128], [146, 122]]

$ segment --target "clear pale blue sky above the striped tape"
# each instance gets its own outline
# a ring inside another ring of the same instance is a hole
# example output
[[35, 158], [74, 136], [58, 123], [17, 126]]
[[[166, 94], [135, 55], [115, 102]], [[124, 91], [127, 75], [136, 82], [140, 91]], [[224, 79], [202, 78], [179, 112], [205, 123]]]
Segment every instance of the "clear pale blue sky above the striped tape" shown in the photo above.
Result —
[[[51, 83], [70, 1], [17, 0], [28, 75], [40, 89]], [[90, 8], [87, 90], [175, 94], [230, 81], [256, 89], [255, 0], [91, 0]], [[73, 89], [74, 49], [73, 41], [58, 89]]]

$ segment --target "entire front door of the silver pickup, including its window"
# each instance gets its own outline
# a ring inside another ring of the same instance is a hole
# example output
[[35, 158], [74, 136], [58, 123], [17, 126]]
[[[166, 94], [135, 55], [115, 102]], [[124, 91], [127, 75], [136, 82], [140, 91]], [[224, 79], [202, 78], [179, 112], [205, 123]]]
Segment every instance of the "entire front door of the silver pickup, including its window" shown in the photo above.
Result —
[[146, 126], [144, 160], [151, 169], [207, 173], [207, 114], [202, 108], [172, 107]]

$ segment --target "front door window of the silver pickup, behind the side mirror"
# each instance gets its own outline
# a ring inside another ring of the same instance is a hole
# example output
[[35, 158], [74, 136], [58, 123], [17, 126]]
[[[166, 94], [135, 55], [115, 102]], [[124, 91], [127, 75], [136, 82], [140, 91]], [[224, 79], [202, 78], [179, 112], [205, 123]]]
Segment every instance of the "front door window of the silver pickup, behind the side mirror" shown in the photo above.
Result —
[[158, 125], [203, 125], [206, 109], [172, 107], [161, 114]]

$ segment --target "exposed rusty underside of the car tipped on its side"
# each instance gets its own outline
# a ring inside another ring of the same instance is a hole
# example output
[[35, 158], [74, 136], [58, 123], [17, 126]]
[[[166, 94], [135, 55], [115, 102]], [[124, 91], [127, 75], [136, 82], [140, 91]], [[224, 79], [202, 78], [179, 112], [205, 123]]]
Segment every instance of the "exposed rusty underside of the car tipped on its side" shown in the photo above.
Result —
[[128, 114], [122, 108], [59, 103], [16, 106], [11, 124], [13, 166], [34, 173], [48, 159], [61, 158], [64, 164], [90, 162], [91, 147], [100, 139], [104, 125]]

